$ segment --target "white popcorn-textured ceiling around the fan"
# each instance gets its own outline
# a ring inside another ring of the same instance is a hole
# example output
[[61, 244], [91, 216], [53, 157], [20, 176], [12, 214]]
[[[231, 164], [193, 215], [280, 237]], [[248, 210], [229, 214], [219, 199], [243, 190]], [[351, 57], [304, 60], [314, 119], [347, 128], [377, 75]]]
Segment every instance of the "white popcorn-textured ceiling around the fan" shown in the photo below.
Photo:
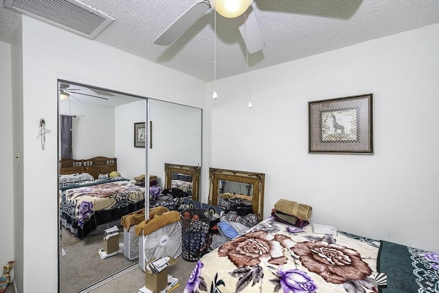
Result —
[[[0, 7], [0, 41], [10, 43], [20, 14]], [[116, 20], [95, 41], [209, 82], [214, 14], [209, 10], [164, 47], [152, 42], [195, 0], [83, 0]], [[439, 0], [254, 0], [265, 48], [248, 55], [250, 71], [366, 40], [439, 23]], [[216, 78], [247, 71], [236, 19], [217, 16]]]

